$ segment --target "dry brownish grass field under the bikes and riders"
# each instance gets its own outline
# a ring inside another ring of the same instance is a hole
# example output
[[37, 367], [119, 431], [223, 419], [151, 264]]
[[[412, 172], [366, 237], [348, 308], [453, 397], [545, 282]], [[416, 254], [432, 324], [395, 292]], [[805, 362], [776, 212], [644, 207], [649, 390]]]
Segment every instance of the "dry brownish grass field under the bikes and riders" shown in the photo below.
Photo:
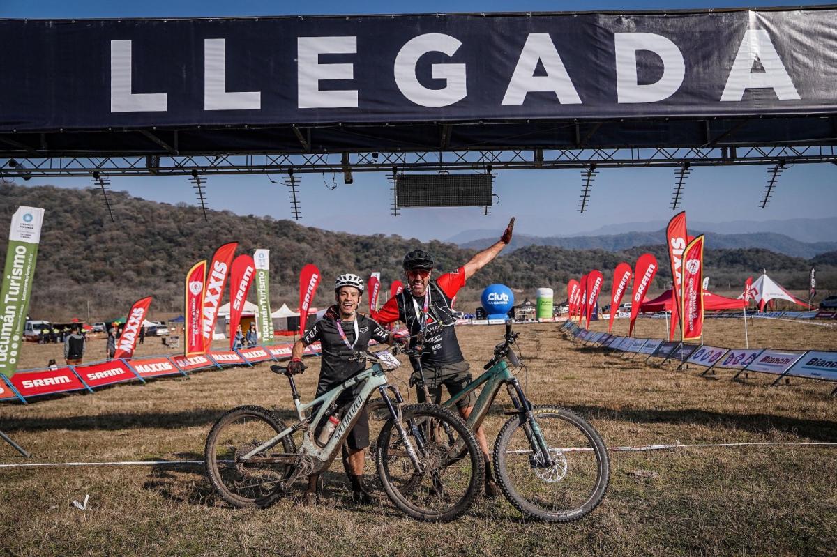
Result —
[[[637, 334], [659, 338], [664, 326], [641, 319]], [[755, 319], [749, 327], [751, 346], [837, 347], [832, 327]], [[626, 320], [616, 329], [624, 334]], [[771, 376], [733, 382], [723, 370], [707, 380], [698, 369], [675, 371], [574, 345], [557, 324], [520, 330], [527, 364], [520, 377], [533, 401], [578, 411], [609, 446], [837, 442], [833, 384], [769, 387]], [[460, 327], [458, 335], [480, 370], [502, 328]], [[96, 342], [91, 350], [103, 355], [105, 341]], [[742, 321], [710, 320], [706, 343], [743, 346]], [[148, 339], [140, 353], [160, 348]], [[27, 345], [23, 367], [59, 355], [54, 345]], [[306, 397], [318, 372], [317, 360], [308, 361], [299, 381]], [[393, 374], [405, 395], [407, 367]], [[506, 404], [505, 393], [498, 402]], [[33, 462], [200, 460], [213, 422], [241, 404], [285, 416], [292, 408], [287, 382], [263, 364], [0, 406], [0, 429], [33, 452]], [[506, 418], [502, 410], [486, 424], [490, 443]], [[3, 443], [0, 461], [24, 459]], [[833, 555], [837, 547], [834, 447], [613, 452], [611, 466], [601, 506], [565, 525], [526, 523], [503, 498], [480, 500], [452, 524], [405, 519], [386, 498], [352, 507], [339, 463], [319, 506], [289, 499], [261, 511], [225, 506], [198, 466], [0, 469], [0, 548], [10, 555]], [[86, 511], [71, 506], [88, 493]]]

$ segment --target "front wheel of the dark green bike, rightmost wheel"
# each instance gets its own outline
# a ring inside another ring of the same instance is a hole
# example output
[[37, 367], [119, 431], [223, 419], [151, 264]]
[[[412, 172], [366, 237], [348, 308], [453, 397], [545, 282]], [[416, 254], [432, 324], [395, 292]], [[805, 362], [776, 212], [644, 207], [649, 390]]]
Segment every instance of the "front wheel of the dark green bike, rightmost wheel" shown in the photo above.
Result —
[[602, 502], [610, 461], [602, 437], [581, 416], [557, 406], [535, 406], [537, 429], [548, 447], [547, 462], [524, 416], [502, 427], [494, 467], [503, 493], [521, 513], [546, 522], [571, 522]]

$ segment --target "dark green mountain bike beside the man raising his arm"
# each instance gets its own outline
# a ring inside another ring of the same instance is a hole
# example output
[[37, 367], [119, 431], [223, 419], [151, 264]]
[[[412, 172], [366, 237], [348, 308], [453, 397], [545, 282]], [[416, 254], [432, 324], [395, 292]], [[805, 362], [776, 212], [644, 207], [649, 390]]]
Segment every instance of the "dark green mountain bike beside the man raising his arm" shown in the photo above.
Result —
[[[454, 408], [457, 401], [483, 387], [466, 422], [480, 427], [502, 386], [514, 406], [511, 418], [501, 427], [492, 462], [497, 483], [509, 502], [531, 519], [571, 522], [591, 513], [608, 488], [610, 462], [602, 437], [581, 416], [558, 406], [532, 406], [512, 367], [521, 367], [513, 347], [519, 333], [506, 324], [504, 341], [485, 364], [485, 373], [471, 381], [442, 406]], [[509, 365], [511, 364], [511, 366]], [[422, 383], [424, 371], [419, 367]], [[425, 391], [425, 400], [432, 400]], [[386, 401], [370, 405], [370, 415], [380, 412]], [[460, 454], [464, 457], [464, 447]]]

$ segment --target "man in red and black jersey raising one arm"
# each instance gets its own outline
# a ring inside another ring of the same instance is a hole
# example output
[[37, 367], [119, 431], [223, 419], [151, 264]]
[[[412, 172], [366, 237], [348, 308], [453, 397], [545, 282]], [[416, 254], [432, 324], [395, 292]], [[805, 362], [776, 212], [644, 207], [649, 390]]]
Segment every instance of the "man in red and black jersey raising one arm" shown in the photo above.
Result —
[[[450, 304], [456, 293], [465, 286], [465, 282], [511, 242], [514, 226], [515, 219], [512, 217], [499, 241], [477, 253], [462, 267], [444, 273], [438, 279], [430, 278], [434, 262], [429, 253], [420, 249], [408, 253], [403, 261], [407, 288], [389, 299], [381, 311], [372, 315], [380, 324], [403, 321], [410, 332], [410, 348], [415, 349], [420, 345], [420, 359], [410, 358], [413, 364], [411, 382], [417, 387], [419, 402], [425, 401], [421, 371], [424, 372], [432, 402], [436, 404], [441, 401], [443, 385], [450, 396], [456, 396], [470, 383], [470, 365], [465, 361], [459, 340], [456, 339], [456, 318]], [[467, 418], [474, 409], [475, 398], [474, 393], [471, 393], [457, 402], [463, 417]], [[491, 473], [488, 442], [483, 427], [477, 428], [476, 437], [485, 457], [485, 494], [495, 497], [500, 494], [500, 490]]]

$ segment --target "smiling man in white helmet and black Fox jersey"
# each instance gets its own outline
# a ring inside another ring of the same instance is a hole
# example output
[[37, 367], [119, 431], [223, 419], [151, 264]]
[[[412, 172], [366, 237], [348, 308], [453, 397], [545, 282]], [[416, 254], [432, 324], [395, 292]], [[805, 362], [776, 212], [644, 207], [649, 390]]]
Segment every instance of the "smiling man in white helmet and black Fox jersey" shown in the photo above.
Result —
[[[316, 396], [324, 395], [343, 381], [356, 376], [366, 369], [365, 361], [350, 361], [341, 356], [344, 350], [367, 350], [370, 340], [392, 344], [392, 333], [384, 330], [374, 319], [358, 314], [357, 307], [363, 294], [363, 279], [356, 274], [341, 274], [334, 283], [336, 304], [332, 305], [323, 318], [306, 331], [294, 344], [288, 371], [302, 373], [306, 366], [302, 363], [302, 353], [307, 345], [316, 340], [322, 346], [320, 379], [317, 382]], [[337, 397], [340, 407], [352, 404], [361, 386], [344, 391]], [[360, 504], [372, 503], [372, 496], [363, 485], [363, 461], [365, 449], [369, 446], [369, 415], [366, 407], [358, 414], [357, 423], [342, 447], [343, 468], [352, 483], [352, 501]], [[308, 478], [305, 501], [311, 502], [316, 497], [319, 474]]]

